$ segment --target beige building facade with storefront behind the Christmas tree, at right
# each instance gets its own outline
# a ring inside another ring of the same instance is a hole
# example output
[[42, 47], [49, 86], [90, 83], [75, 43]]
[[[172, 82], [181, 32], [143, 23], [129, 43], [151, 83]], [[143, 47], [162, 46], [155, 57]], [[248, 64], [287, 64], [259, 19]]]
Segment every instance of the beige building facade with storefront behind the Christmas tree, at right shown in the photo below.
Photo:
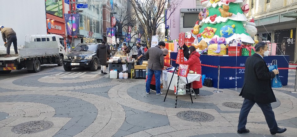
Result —
[[296, 62], [297, 0], [249, 0], [248, 19], [254, 17], [258, 29], [255, 40], [277, 43], [278, 55]]

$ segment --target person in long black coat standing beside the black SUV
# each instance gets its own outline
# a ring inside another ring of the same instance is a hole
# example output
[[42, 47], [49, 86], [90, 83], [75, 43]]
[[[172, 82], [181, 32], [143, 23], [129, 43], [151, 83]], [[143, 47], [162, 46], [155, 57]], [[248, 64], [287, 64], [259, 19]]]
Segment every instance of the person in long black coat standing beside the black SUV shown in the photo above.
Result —
[[106, 65], [108, 65], [107, 59], [109, 59], [109, 54], [110, 54], [110, 49], [107, 48], [107, 46], [105, 45], [105, 41], [102, 41], [102, 44], [99, 45], [98, 48], [98, 56], [99, 56], [99, 62], [101, 65], [101, 73], [102, 74], [107, 74], [106, 71]]

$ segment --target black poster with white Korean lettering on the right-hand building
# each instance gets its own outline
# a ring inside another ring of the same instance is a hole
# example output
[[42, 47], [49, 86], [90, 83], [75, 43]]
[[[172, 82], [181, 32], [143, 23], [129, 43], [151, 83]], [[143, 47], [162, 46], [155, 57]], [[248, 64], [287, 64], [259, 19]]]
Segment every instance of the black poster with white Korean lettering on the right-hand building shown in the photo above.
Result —
[[294, 61], [296, 29], [274, 32], [274, 42], [277, 43], [276, 55], [289, 55], [289, 61]]

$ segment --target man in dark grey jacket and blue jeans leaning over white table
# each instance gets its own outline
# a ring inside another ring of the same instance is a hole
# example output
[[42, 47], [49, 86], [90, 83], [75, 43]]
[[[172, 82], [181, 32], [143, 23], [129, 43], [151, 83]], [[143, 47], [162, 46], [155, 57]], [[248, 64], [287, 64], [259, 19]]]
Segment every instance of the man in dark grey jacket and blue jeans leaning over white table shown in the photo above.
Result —
[[[160, 85], [161, 71], [164, 67], [164, 54], [161, 49], [165, 47], [165, 42], [160, 41], [155, 47], [149, 48], [147, 52], [144, 53], [146, 58], [149, 59], [148, 62], [148, 79], [146, 81], [146, 93], [149, 94], [152, 77], [155, 74], [156, 85]], [[160, 86], [156, 86], [157, 95], [163, 94], [161, 92]]]

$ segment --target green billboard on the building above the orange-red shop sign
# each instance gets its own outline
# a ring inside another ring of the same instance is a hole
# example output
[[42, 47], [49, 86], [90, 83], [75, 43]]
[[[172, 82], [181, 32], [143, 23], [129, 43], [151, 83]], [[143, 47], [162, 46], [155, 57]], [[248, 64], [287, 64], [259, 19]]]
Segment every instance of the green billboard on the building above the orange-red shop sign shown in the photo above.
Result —
[[46, 0], [45, 11], [48, 14], [63, 18], [63, 1], [62, 0]]

